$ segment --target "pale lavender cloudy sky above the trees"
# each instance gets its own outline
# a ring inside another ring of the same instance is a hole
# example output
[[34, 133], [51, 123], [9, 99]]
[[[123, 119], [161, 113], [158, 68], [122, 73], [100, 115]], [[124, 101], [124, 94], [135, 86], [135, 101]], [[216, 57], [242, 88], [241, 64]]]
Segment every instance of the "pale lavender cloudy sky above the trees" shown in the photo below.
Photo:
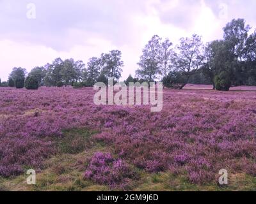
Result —
[[0, 0], [0, 78], [56, 57], [87, 62], [119, 49], [122, 79], [134, 75], [141, 50], [158, 34], [174, 44], [200, 34], [220, 39], [232, 18], [256, 28], [255, 0]]

